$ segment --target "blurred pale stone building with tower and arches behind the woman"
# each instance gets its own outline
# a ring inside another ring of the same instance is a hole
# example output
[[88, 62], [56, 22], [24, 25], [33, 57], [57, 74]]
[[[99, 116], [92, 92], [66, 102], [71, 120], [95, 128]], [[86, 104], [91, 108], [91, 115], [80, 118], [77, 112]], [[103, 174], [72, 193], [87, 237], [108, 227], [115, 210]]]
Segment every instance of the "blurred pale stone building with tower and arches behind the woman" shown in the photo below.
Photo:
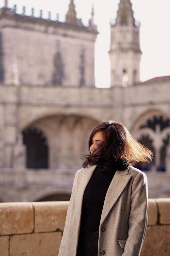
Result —
[[111, 25], [111, 87], [96, 88], [97, 27], [0, 9], [0, 200], [68, 200], [87, 140], [103, 120], [122, 122], [155, 157], [150, 197], [170, 196], [170, 76], [140, 83], [140, 24], [120, 0]]

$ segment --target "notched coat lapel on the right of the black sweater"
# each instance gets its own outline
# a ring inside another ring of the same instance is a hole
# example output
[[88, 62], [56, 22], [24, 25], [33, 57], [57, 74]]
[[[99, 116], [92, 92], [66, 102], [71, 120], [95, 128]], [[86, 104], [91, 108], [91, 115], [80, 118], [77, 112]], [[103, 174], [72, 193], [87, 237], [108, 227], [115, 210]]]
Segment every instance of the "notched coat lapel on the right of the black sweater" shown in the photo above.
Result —
[[107, 217], [109, 211], [111, 211], [119, 196], [121, 195], [123, 189], [128, 184], [130, 178], [131, 175], [128, 175], [128, 169], [116, 171], [106, 193], [100, 219], [100, 226], [103, 223], [104, 219]]

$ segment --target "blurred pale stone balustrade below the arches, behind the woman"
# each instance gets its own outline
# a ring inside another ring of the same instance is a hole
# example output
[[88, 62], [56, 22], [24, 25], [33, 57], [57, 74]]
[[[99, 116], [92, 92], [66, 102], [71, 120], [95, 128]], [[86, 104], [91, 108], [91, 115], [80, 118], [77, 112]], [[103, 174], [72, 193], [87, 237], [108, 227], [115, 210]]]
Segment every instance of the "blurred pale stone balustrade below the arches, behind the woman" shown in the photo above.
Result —
[[[146, 172], [149, 198], [170, 197], [170, 175]], [[39, 201], [53, 194], [71, 194], [74, 169], [0, 169], [0, 202]], [[41, 179], [39, 179], [41, 177]], [[22, 193], [21, 193], [22, 190]]]

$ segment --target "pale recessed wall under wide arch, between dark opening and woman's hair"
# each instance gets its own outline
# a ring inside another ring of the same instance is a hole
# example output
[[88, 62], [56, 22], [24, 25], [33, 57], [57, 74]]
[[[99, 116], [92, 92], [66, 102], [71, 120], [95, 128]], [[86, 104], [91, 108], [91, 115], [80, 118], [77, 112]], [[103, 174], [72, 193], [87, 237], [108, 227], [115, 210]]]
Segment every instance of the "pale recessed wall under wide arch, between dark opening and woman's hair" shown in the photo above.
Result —
[[31, 127], [41, 131], [49, 146], [50, 169], [79, 169], [81, 155], [98, 120], [81, 115], [52, 115], [36, 120]]

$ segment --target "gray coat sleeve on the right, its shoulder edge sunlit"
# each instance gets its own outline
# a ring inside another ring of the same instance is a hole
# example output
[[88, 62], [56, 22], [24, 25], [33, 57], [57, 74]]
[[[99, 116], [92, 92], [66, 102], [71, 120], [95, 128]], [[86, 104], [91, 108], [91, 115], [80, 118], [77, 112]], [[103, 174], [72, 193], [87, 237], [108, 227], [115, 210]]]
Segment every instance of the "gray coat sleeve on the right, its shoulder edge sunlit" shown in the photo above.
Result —
[[139, 256], [148, 222], [148, 185], [145, 173], [139, 173], [132, 184], [128, 239], [122, 256]]

